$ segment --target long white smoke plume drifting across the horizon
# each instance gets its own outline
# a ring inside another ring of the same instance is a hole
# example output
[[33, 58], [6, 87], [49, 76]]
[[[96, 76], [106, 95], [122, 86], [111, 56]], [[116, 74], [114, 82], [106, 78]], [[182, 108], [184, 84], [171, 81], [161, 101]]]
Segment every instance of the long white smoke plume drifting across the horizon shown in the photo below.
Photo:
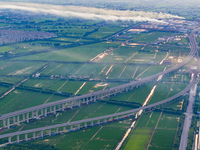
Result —
[[151, 21], [162, 22], [158, 19], [178, 18], [178, 16], [165, 13], [143, 12], [143, 11], [120, 11], [106, 10], [82, 6], [61, 6], [36, 3], [5, 3], [0, 2], [0, 9], [15, 9], [32, 11], [36, 13], [49, 13], [64, 17], [78, 17], [92, 20], [106, 21]]

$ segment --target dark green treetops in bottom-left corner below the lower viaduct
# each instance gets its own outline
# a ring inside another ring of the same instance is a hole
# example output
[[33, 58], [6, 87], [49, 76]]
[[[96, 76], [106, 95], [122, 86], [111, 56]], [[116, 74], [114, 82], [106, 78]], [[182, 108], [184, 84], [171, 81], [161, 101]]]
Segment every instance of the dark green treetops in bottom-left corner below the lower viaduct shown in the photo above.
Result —
[[2, 147], [2, 150], [59, 150], [54, 146], [44, 145], [44, 144], [31, 144], [31, 143], [23, 143], [23, 144], [13, 144], [8, 145], [6, 147]]

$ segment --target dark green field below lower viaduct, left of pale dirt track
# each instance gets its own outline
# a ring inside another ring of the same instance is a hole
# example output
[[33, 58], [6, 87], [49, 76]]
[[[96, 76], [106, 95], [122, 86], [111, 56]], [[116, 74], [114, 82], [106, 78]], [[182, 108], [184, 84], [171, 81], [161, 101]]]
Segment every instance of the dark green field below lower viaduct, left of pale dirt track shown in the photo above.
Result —
[[[112, 150], [118, 143], [118, 140], [123, 136], [125, 128], [123, 127], [92, 127], [86, 130], [80, 130], [70, 134], [61, 134], [58, 136], [47, 137], [44, 140], [36, 140], [33, 143], [43, 143], [55, 145], [55, 147], [64, 149], [83, 149], [83, 150], [98, 150], [107, 149]], [[109, 137], [104, 139], [104, 134], [109, 130]], [[119, 132], [117, 132], [119, 131]]]

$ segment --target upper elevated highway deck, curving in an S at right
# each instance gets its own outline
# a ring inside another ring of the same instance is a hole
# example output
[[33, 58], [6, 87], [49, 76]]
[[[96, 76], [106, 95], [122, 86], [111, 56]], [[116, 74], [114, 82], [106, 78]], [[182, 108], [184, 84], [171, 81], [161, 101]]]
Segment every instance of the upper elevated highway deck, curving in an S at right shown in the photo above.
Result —
[[189, 36], [190, 46], [191, 46], [190, 54], [181, 63], [179, 63], [179, 64], [177, 64], [177, 65], [175, 65], [175, 66], [173, 66], [173, 67], [171, 67], [171, 68], [169, 68], [165, 71], [162, 71], [162, 72], [157, 73], [155, 75], [143, 78], [139, 81], [130, 82], [130, 83], [123, 84], [123, 85], [120, 85], [120, 86], [117, 86], [117, 87], [113, 87], [113, 88], [110, 88], [110, 89], [107, 89], [107, 90], [89, 93], [89, 94], [85, 94], [85, 95], [81, 95], [81, 96], [76, 96], [76, 97], [72, 97], [72, 98], [68, 98], [68, 99], [64, 99], [64, 100], [60, 100], [60, 101], [56, 101], [56, 102], [52, 102], [52, 103], [47, 103], [47, 104], [44, 104], [44, 105], [30, 107], [30, 108], [27, 108], [27, 109], [23, 109], [23, 110], [15, 111], [15, 112], [12, 112], [12, 113], [4, 114], [0, 117], [0, 120], [7, 119], [9, 117], [13, 117], [13, 116], [17, 116], [17, 115], [21, 115], [21, 114], [25, 114], [25, 113], [28, 113], [28, 112], [31, 112], [31, 111], [36, 111], [36, 110], [39, 110], [39, 109], [43, 109], [43, 108], [47, 108], [47, 107], [51, 107], [51, 106], [55, 106], [55, 105], [60, 105], [60, 104], [67, 103], [67, 102], [70, 102], [70, 101], [84, 99], [84, 98], [88, 98], [88, 97], [93, 97], [93, 96], [101, 95], [101, 94], [105, 94], [105, 93], [110, 93], [110, 92], [113, 92], [113, 91], [116, 91], [116, 90], [119, 90], [119, 89], [124, 89], [124, 88], [130, 87], [130, 86], [136, 86], [138, 84], [142, 84], [142, 83], [151, 81], [151, 80], [159, 77], [160, 75], [164, 75], [164, 74], [167, 74], [167, 73], [172, 72], [174, 70], [177, 70], [180, 67], [187, 64], [191, 59], [193, 59], [195, 57], [196, 54], [198, 54], [198, 46], [197, 46], [196, 39], [195, 39], [195, 33], [199, 29], [200, 28], [197, 28], [194, 31], [192, 31], [192, 33]]

